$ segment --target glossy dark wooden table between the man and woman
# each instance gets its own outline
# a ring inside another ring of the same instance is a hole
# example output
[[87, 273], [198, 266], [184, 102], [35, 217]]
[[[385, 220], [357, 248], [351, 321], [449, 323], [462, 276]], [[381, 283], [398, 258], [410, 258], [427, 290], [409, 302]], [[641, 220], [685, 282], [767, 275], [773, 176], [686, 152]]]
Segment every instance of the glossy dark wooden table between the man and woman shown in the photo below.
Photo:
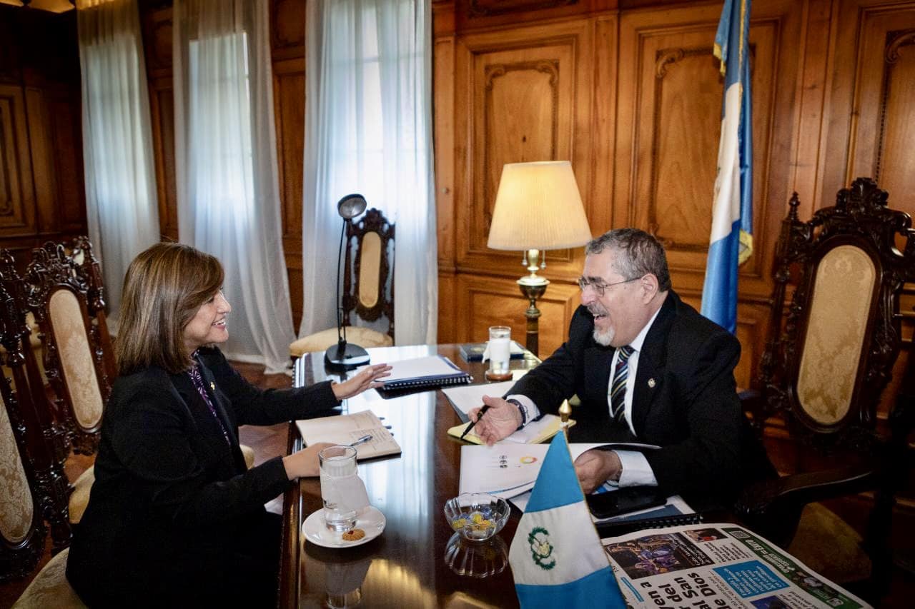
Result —
[[[371, 348], [372, 363], [447, 356], [486, 382], [482, 364], [460, 358], [457, 345]], [[296, 363], [296, 386], [339, 379], [324, 368], [323, 353], [307, 354]], [[539, 363], [528, 355], [512, 359], [512, 369]], [[344, 401], [343, 412], [371, 410], [391, 426], [402, 454], [359, 464], [371, 505], [387, 519], [382, 534], [346, 549], [329, 549], [301, 536], [305, 518], [321, 508], [318, 478], [302, 479], [284, 497], [281, 607], [512, 607], [518, 601], [508, 566], [508, 547], [520, 518], [511, 518], [487, 545], [456, 545], [456, 535], [442, 512], [458, 495], [460, 447], [447, 435], [460, 422], [441, 390], [383, 399], [375, 390]], [[289, 450], [302, 447], [295, 423], [289, 427]], [[449, 546], [449, 540], [451, 545]], [[504, 542], [504, 543], [502, 543]], [[460, 574], [464, 572], [467, 574]], [[473, 572], [469, 574], [469, 572]], [[492, 572], [486, 577], [480, 575]]]

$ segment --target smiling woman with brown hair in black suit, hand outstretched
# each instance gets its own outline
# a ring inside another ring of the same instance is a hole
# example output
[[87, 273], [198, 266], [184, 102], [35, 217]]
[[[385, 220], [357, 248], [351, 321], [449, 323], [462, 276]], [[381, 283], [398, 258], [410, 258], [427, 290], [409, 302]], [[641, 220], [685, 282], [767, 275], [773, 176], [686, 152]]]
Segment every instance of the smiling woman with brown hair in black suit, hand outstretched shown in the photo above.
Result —
[[216, 258], [178, 243], [127, 270], [119, 377], [67, 565], [90, 606], [274, 605], [280, 518], [264, 503], [318, 475], [329, 444], [246, 469], [238, 426], [326, 413], [388, 374], [379, 364], [340, 383], [254, 388], [216, 347], [229, 337], [222, 279]]

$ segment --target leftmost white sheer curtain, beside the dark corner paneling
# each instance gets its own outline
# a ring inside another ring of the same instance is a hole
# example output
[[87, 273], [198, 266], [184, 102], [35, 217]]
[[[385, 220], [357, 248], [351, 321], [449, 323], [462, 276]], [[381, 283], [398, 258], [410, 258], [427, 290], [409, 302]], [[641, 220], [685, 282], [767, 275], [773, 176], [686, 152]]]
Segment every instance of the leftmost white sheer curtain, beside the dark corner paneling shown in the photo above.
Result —
[[133, 0], [81, 0], [77, 23], [86, 216], [114, 328], [127, 265], [159, 240], [146, 70]]

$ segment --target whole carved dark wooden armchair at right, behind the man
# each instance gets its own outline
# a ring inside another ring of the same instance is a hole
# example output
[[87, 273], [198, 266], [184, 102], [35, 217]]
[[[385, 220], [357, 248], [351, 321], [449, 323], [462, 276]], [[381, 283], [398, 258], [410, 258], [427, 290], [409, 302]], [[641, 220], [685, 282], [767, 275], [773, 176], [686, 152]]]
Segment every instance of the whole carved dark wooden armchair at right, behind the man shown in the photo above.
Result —
[[[912, 417], [903, 412], [911, 404], [900, 402], [888, 432], [878, 429], [877, 404], [899, 354], [899, 293], [915, 279], [915, 230], [867, 178], [840, 190], [835, 206], [808, 222], [798, 219], [799, 205], [795, 193], [776, 250], [759, 393], [744, 401], [758, 430], [773, 417], [784, 422], [797, 471], [749, 487], [737, 512], [751, 529], [838, 582], [867, 578], [869, 558], [868, 583], [879, 589], [890, 572], [892, 480], [904, 462]], [[860, 540], [854, 530], [814, 502], [867, 490], [877, 496], [862, 565], [853, 557], [858, 548], [842, 558], [839, 540]], [[814, 544], [816, 536], [807, 533], [815, 526], [834, 530]], [[847, 534], [838, 530], [843, 526]], [[796, 533], [799, 543], [792, 544]], [[818, 555], [808, 556], [814, 546]]]

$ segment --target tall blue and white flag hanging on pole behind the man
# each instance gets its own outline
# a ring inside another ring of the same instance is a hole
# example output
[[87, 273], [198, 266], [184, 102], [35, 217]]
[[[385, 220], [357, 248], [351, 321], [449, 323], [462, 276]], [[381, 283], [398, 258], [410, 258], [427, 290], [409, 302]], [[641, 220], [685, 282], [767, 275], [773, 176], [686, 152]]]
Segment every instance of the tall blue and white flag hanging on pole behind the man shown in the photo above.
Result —
[[753, 251], [753, 137], [749, 94], [749, 3], [725, 0], [715, 56], [725, 76], [718, 176], [712, 208], [702, 315], [737, 329], [737, 264]]

